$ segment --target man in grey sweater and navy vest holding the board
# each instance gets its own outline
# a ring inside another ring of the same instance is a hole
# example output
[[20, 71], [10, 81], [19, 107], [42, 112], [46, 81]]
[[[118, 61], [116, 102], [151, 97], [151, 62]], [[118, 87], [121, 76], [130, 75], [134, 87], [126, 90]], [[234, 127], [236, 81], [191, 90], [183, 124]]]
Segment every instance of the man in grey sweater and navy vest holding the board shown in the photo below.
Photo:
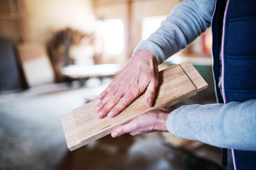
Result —
[[160, 28], [142, 41], [134, 56], [99, 95], [99, 119], [116, 116], [145, 91], [152, 106], [158, 68], [212, 28], [213, 72], [218, 104], [182, 106], [151, 111], [117, 127], [111, 135], [169, 131], [222, 150], [222, 168], [256, 169], [256, 1], [184, 0]]

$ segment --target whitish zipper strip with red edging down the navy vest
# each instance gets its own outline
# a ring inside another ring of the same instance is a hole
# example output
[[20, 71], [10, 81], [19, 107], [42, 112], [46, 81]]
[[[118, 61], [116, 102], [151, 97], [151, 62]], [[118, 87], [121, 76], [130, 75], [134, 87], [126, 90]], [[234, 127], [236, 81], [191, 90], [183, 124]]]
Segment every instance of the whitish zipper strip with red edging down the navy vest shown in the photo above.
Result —
[[[225, 98], [225, 90], [224, 90], [224, 38], [225, 38], [225, 27], [226, 27], [226, 17], [227, 17], [227, 8], [229, 5], [229, 1], [227, 0], [227, 5], [225, 8], [225, 13], [224, 13], [224, 21], [223, 21], [223, 33], [222, 33], [222, 43], [221, 43], [221, 62], [222, 62], [222, 82], [221, 82], [221, 86], [222, 86], [222, 95], [223, 95], [223, 99], [224, 99], [224, 103], [226, 104], [226, 98]], [[232, 158], [233, 158], [233, 164], [234, 164], [234, 170], [236, 169], [236, 157], [235, 157], [235, 153], [234, 153], [234, 149], [231, 149], [232, 151]]]

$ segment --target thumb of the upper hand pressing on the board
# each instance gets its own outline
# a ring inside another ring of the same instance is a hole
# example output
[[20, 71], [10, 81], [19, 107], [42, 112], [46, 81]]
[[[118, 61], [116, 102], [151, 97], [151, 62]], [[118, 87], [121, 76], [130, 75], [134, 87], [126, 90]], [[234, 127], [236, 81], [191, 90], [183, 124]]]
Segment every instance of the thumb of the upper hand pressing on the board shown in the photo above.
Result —
[[149, 108], [151, 108], [153, 105], [154, 98], [156, 96], [157, 86], [158, 86], [157, 80], [151, 81], [148, 84], [147, 90], [145, 91], [145, 103], [146, 103], [146, 106]]

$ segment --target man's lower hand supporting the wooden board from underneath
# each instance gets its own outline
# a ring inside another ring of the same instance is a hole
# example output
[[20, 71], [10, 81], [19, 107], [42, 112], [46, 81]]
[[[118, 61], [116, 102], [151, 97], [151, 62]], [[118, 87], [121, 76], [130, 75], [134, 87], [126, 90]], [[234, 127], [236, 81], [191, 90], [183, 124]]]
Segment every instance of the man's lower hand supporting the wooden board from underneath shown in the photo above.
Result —
[[163, 108], [156, 111], [149, 111], [137, 116], [130, 123], [116, 127], [111, 133], [113, 138], [130, 133], [132, 136], [143, 133], [162, 131], [166, 132], [166, 120], [173, 110]]

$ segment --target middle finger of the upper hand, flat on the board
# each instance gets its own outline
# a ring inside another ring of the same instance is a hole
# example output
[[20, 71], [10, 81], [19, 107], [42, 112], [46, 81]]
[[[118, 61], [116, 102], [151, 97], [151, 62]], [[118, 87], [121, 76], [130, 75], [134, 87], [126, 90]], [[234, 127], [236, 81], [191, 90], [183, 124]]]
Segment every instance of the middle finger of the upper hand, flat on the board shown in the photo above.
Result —
[[119, 102], [122, 96], [124, 96], [124, 92], [116, 92], [116, 94], [109, 99], [108, 103], [96, 114], [97, 118], [102, 119], [107, 116], [107, 114], [112, 114], [109, 111]]

